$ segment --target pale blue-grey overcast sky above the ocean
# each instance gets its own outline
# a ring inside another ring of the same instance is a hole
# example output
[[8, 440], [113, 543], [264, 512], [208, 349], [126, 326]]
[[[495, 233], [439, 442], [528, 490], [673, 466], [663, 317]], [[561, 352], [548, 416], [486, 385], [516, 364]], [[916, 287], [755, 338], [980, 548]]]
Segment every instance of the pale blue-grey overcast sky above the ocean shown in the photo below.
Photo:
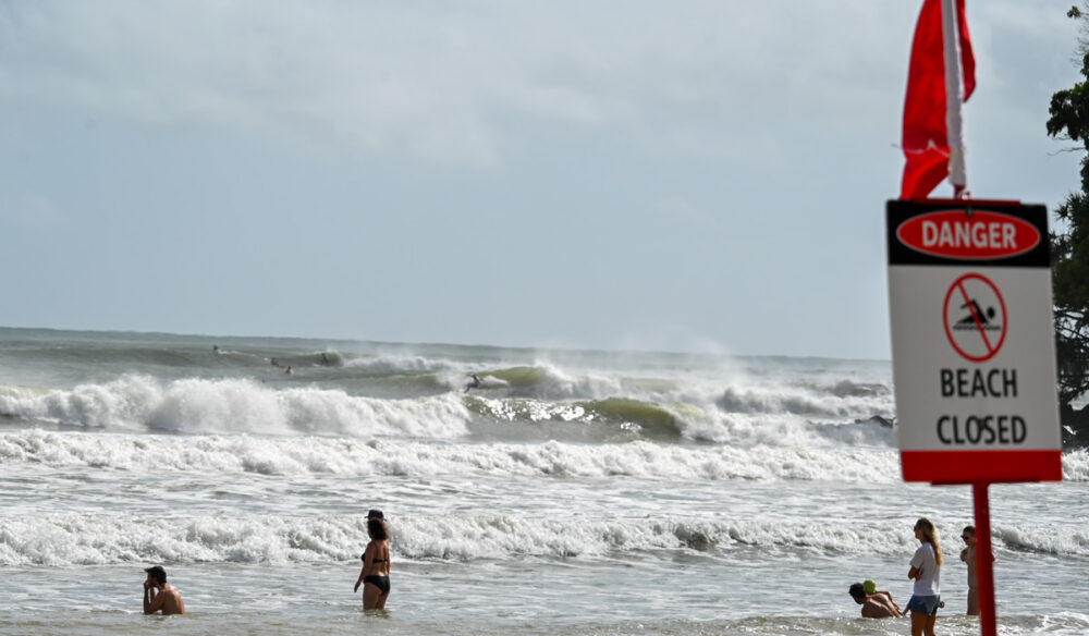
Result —
[[[977, 197], [1070, 3], [968, 0]], [[0, 325], [886, 359], [920, 7], [0, 0]]]

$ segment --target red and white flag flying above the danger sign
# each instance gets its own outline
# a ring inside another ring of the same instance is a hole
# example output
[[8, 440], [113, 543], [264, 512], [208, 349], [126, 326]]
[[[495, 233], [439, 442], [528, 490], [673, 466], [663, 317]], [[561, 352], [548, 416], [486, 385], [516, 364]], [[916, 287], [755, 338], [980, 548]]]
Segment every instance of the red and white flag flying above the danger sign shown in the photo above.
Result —
[[[942, 23], [942, 4], [946, 22]], [[956, 5], [955, 27], [953, 11]], [[945, 73], [945, 60], [953, 62]], [[959, 61], [959, 64], [957, 64]], [[959, 66], [959, 76], [956, 73]], [[966, 185], [960, 105], [976, 88], [976, 59], [971, 54], [964, 0], [925, 0], [911, 44], [911, 66], [904, 100], [904, 181], [900, 198], [927, 198], [951, 172], [959, 195]], [[947, 99], [952, 97], [952, 99]], [[952, 133], [952, 134], [951, 134]], [[952, 139], [951, 139], [952, 137]]]

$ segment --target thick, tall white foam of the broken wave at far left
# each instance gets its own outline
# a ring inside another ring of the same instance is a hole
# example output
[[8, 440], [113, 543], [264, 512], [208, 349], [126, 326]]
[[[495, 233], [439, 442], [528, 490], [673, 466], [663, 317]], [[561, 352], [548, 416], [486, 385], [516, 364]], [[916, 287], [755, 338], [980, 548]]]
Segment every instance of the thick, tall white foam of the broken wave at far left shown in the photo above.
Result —
[[163, 383], [123, 376], [45, 394], [8, 391], [0, 413], [68, 426], [173, 432], [337, 433], [452, 438], [469, 413], [453, 394], [411, 400], [352, 396], [339, 390], [274, 390], [245, 379]]

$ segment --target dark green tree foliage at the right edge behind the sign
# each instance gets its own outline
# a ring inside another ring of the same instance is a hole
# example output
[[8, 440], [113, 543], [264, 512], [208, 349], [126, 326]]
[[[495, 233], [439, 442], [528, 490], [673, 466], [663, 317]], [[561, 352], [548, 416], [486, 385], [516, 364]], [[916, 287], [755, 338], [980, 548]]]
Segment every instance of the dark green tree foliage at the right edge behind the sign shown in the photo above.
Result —
[[[1067, 15], [1082, 21], [1087, 12], [1070, 8]], [[1081, 159], [1081, 189], [1055, 210], [1061, 228], [1051, 233], [1055, 293], [1055, 346], [1059, 357], [1060, 402], [1089, 391], [1089, 45], [1080, 41], [1081, 75], [1073, 88], [1051, 96], [1048, 134], [1076, 142], [1087, 151]]]

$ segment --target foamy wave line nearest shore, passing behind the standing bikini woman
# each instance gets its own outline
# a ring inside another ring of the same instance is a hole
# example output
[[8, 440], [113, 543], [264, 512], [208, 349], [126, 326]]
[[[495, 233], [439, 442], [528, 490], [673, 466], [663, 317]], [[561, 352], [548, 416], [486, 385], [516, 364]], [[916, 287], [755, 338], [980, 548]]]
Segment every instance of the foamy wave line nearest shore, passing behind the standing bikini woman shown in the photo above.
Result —
[[[895, 556], [916, 547], [902, 525], [444, 514], [397, 517], [389, 528], [395, 559], [472, 561], [625, 558], [662, 550]], [[1028, 534], [998, 530], [996, 551], [1000, 555], [1012, 550], [1089, 556], [1089, 541], [1079, 530], [1059, 530], [1036, 543], [1021, 539]], [[359, 516], [149, 519], [70, 513], [0, 518], [0, 565], [352, 561], [358, 559], [367, 540], [366, 519]]]

